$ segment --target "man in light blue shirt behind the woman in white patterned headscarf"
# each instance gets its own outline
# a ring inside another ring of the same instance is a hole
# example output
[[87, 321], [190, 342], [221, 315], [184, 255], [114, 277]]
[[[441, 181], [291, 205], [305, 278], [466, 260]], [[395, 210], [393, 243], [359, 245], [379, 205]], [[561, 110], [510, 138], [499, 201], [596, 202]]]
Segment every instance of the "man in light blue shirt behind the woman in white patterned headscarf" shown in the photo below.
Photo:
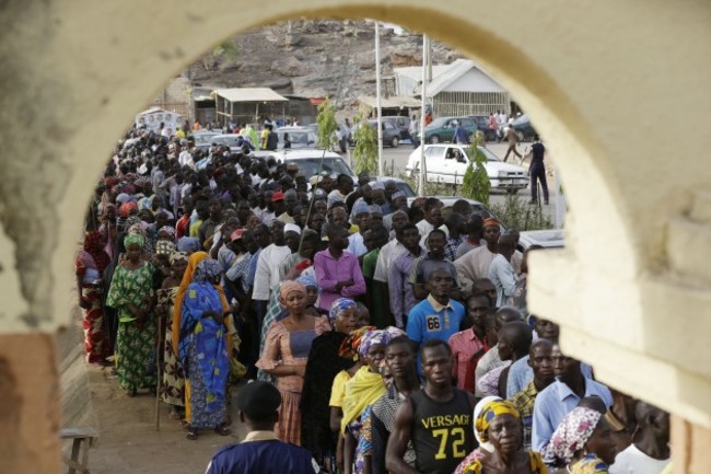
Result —
[[560, 421], [580, 401], [586, 396], [597, 396], [609, 408], [613, 395], [602, 383], [587, 379], [580, 370], [580, 360], [566, 357], [558, 344], [552, 349], [556, 381], [536, 397], [533, 416], [533, 450], [544, 452]]

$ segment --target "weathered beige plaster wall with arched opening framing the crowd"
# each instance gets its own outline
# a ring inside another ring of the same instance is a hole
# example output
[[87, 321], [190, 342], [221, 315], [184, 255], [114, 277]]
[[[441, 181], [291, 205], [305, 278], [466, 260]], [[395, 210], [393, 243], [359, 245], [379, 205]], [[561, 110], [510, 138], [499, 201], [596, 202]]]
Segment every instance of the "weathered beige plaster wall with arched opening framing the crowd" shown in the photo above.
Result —
[[9, 2], [0, 332], [67, 324], [82, 210], [131, 117], [213, 43], [302, 14], [427, 31], [511, 91], [572, 209], [566, 251], [533, 261], [532, 308], [561, 322], [564, 349], [604, 381], [710, 427], [711, 219], [696, 195], [711, 184], [703, 0]]

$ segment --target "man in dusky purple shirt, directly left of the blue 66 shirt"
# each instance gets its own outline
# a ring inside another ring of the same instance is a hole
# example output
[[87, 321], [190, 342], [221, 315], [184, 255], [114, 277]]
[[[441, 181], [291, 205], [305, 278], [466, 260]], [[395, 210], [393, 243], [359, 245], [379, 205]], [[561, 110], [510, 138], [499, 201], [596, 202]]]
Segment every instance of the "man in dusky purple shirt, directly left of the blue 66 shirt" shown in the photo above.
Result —
[[397, 240], [405, 246], [405, 253], [395, 259], [387, 287], [391, 293], [391, 310], [395, 317], [395, 325], [401, 330], [407, 323], [407, 314], [418, 303], [412, 292], [412, 285], [408, 280], [412, 264], [422, 255], [422, 247], [420, 246], [420, 230], [413, 223], [408, 223], [397, 232]]

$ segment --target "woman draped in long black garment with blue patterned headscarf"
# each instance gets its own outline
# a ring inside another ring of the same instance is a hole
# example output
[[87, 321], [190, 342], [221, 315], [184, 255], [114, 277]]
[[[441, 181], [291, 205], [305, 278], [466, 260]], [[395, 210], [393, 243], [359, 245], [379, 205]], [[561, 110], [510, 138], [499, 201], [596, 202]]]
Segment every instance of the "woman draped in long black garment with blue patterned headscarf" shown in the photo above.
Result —
[[[316, 285], [314, 277], [301, 277], [306, 290]], [[318, 293], [316, 293], [318, 297]], [[315, 300], [312, 304], [315, 303]], [[356, 301], [340, 298], [334, 301], [328, 314], [331, 331], [316, 337], [308, 352], [304, 390], [301, 397], [302, 446], [308, 449], [314, 459], [324, 467], [335, 467], [337, 437], [330, 429], [330, 400], [334, 379], [341, 370], [356, 365], [352, 357], [340, 357], [339, 350], [348, 335], [358, 328]]]

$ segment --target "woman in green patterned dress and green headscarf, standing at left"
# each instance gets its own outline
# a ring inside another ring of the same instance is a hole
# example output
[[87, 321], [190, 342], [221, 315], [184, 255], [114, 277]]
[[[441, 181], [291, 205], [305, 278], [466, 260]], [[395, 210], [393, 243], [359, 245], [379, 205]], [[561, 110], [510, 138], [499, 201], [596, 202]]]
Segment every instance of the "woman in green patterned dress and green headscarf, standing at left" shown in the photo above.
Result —
[[129, 234], [126, 257], [114, 271], [106, 304], [118, 312], [116, 370], [119, 386], [135, 396], [138, 389], [155, 386], [153, 365], [158, 335], [153, 317], [153, 265], [141, 259], [145, 239]]

